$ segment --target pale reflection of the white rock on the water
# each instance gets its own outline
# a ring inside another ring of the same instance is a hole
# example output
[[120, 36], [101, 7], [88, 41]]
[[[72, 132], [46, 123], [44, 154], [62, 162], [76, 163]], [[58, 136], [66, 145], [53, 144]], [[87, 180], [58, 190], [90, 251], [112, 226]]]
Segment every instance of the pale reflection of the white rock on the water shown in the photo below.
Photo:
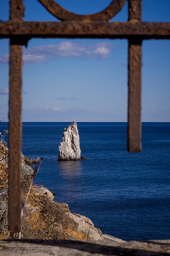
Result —
[[76, 179], [82, 174], [81, 160], [58, 161], [58, 169], [65, 179]]

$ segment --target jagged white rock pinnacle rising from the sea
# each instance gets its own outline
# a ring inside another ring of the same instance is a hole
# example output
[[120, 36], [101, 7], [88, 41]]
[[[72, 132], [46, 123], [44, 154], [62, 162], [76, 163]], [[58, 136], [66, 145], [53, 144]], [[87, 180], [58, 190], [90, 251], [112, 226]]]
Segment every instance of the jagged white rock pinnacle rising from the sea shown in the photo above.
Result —
[[81, 150], [77, 123], [74, 121], [68, 128], [64, 128], [63, 142], [59, 144], [59, 161], [80, 160]]

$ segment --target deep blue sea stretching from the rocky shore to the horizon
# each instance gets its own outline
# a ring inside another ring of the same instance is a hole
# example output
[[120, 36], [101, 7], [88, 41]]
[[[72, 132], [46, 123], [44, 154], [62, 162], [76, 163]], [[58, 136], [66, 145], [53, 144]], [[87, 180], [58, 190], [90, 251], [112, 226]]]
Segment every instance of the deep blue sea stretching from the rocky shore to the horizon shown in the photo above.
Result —
[[[73, 213], [123, 240], [170, 238], [170, 123], [142, 123], [142, 152], [126, 151], [126, 123], [78, 122], [81, 156], [58, 161], [68, 122], [24, 122], [23, 154], [44, 157], [34, 180]], [[8, 123], [0, 123], [0, 131]]]

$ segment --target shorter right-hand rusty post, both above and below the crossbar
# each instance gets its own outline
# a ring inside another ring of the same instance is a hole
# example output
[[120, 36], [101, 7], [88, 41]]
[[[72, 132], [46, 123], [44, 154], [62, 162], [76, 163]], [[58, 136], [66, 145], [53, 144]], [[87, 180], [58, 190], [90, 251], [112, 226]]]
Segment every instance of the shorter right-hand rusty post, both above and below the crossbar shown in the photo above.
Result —
[[[141, 21], [142, 1], [129, 0], [129, 20]], [[128, 47], [128, 127], [127, 149], [141, 152], [141, 68], [142, 40], [129, 38]]]

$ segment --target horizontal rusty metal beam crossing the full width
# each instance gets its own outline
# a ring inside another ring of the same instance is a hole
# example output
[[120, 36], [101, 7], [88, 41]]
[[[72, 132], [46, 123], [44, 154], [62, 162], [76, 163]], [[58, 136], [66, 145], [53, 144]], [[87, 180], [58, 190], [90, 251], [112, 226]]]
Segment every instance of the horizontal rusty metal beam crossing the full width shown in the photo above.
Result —
[[0, 22], [0, 38], [13, 35], [32, 37], [170, 39], [170, 22], [103, 21], [5, 21]]

